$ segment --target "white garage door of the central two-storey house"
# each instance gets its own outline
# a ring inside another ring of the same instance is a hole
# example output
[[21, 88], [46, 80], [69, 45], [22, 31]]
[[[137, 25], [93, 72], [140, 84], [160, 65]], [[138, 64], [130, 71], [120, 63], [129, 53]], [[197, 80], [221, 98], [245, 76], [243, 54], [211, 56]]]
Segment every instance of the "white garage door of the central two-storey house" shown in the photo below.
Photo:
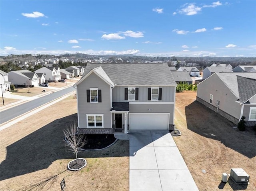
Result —
[[130, 130], [168, 130], [169, 113], [130, 113]]

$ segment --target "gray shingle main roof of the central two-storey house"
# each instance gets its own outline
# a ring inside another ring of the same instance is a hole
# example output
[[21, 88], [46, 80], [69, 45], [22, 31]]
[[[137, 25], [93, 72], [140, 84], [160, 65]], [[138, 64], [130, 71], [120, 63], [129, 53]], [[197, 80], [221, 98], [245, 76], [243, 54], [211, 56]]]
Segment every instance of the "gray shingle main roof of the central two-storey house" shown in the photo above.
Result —
[[117, 85], [176, 85], [166, 63], [88, 63], [83, 76], [99, 66]]

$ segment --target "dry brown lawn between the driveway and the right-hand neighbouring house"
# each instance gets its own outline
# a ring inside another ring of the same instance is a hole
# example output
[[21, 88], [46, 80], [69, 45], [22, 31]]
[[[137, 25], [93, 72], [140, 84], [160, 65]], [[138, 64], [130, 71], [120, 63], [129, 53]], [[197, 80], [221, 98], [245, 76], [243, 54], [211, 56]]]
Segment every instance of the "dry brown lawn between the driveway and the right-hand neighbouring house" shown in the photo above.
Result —
[[[174, 140], [200, 191], [256, 190], [256, 135], [240, 132], [235, 125], [195, 101], [196, 93], [177, 93], [176, 128], [182, 136]], [[231, 179], [222, 183], [222, 173], [242, 168], [250, 184], [236, 185]], [[202, 172], [206, 170], [206, 173]]]

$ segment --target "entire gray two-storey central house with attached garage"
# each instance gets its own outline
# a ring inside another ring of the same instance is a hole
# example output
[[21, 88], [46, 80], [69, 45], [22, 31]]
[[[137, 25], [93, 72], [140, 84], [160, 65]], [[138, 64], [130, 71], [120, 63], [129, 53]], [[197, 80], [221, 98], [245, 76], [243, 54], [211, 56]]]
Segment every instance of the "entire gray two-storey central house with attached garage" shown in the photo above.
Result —
[[80, 134], [174, 127], [176, 83], [163, 63], [89, 63], [74, 85]]

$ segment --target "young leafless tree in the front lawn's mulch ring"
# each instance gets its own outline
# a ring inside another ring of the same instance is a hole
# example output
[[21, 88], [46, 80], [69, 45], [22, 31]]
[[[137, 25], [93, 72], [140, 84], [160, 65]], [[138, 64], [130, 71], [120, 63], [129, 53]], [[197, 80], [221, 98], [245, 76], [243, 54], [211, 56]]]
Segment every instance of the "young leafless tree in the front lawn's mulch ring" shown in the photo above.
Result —
[[73, 122], [66, 126], [66, 129], [63, 130], [64, 136], [66, 137], [65, 145], [69, 147], [69, 150], [76, 155], [76, 163], [77, 163], [77, 154], [79, 149], [85, 146], [88, 142], [88, 138], [86, 135], [78, 134], [77, 123]]

